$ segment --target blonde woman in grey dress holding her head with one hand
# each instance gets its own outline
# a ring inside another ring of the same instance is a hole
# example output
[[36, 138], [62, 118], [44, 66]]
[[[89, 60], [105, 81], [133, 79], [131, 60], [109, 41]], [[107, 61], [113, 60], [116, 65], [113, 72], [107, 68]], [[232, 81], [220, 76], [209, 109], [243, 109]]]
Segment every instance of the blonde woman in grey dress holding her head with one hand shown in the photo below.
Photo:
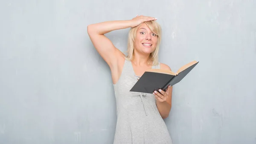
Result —
[[[163, 121], [171, 110], [172, 87], [152, 94], [129, 91], [147, 69], [171, 70], [158, 62], [161, 27], [156, 20], [136, 16], [87, 26], [90, 40], [111, 69], [117, 113], [114, 144], [172, 144]], [[123, 28], [131, 28], [128, 56], [104, 35]]]

